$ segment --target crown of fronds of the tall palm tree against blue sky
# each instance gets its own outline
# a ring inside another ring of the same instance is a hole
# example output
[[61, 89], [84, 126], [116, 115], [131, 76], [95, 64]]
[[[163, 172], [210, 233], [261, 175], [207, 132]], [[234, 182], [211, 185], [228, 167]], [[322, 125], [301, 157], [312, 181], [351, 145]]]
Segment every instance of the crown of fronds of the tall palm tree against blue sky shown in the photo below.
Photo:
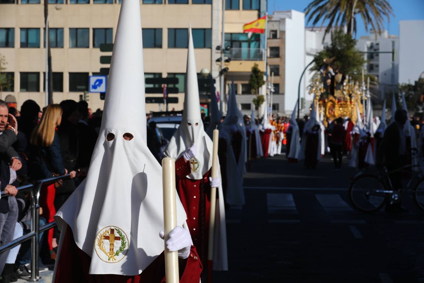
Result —
[[[309, 16], [307, 22], [312, 22], [312, 25], [315, 26], [320, 21], [321, 25], [328, 21], [325, 34], [328, 34], [333, 26], [347, 25], [347, 32], [350, 34], [355, 2], [355, 11], [361, 15], [365, 30], [368, 31], [371, 26], [374, 31], [381, 34], [384, 30], [385, 18], [390, 20], [390, 15], [393, 15], [388, 0], [312, 0], [304, 10], [305, 14]], [[355, 19], [353, 31], [356, 34]]]

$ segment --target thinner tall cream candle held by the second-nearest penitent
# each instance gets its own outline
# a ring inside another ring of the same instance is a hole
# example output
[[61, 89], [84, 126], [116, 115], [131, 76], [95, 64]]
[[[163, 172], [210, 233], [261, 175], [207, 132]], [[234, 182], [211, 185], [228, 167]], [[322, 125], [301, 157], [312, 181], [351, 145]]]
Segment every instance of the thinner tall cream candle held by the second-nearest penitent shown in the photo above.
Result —
[[[218, 138], [219, 131], [213, 130], [213, 151], [212, 151], [212, 179], [216, 178], [218, 169]], [[223, 197], [223, 196], [219, 196]], [[211, 188], [211, 207], [209, 216], [209, 242], [208, 242], [208, 283], [212, 283], [212, 261], [213, 261], [213, 236], [215, 230], [215, 208], [216, 208], [216, 188]]]

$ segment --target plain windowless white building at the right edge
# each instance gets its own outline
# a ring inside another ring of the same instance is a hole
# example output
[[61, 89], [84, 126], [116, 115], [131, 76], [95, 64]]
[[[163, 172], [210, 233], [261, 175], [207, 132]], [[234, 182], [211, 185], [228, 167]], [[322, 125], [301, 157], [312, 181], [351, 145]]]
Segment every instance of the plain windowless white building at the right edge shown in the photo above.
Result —
[[399, 22], [399, 84], [413, 84], [424, 73], [424, 20]]

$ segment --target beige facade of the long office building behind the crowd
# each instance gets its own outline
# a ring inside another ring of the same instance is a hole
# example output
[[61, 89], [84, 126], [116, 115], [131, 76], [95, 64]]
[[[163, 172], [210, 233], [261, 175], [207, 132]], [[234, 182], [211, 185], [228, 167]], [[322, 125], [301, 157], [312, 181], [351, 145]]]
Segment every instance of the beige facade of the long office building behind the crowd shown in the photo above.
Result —
[[[18, 0], [21, 1], [21, 0]], [[43, 91], [45, 72], [45, 48], [44, 48], [44, 0], [39, 4], [0, 4], [0, 28], [14, 28], [14, 48], [1, 48], [0, 54], [5, 56], [6, 70], [4, 72], [14, 73], [14, 89], [11, 92], [1, 94], [1, 99], [8, 95], [14, 95], [18, 109], [27, 100], [33, 99], [40, 106], [45, 106], [45, 92]], [[93, 48], [93, 28], [112, 28], [112, 34], [116, 31], [119, 17], [120, 4], [114, 0], [113, 4], [95, 4], [90, 0], [89, 4], [70, 4], [70, 0], [65, 0], [65, 4], [49, 4], [49, 28], [63, 28], [63, 48], [51, 48], [52, 71], [63, 73], [63, 92], [53, 92], [53, 102], [59, 103], [64, 99], [74, 99], [78, 101], [81, 91], [69, 91], [69, 73], [99, 73], [100, 68], [109, 67], [107, 64], [100, 64], [100, 56], [107, 56], [111, 53], [100, 52], [99, 48]], [[212, 0], [212, 4], [143, 4], [141, 3], [141, 16], [143, 28], [162, 28], [162, 48], [144, 48], [144, 69], [145, 73], [161, 73], [166, 77], [168, 73], [185, 73], [187, 49], [168, 48], [168, 28], [192, 28], [212, 29], [211, 48], [196, 48], [196, 66], [198, 72], [207, 68], [216, 78], [215, 87], [219, 90], [219, 65], [215, 62], [220, 57], [220, 53], [215, 47], [221, 45], [221, 20], [222, 1]], [[243, 0], [240, 0], [239, 10], [226, 10], [226, 33], [243, 33], [243, 24], [256, 20], [259, 17], [258, 10], [243, 10]], [[20, 48], [20, 29], [39, 28], [40, 47]], [[89, 28], [89, 48], [70, 48], [70, 28]], [[235, 58], [225, 67], [229, 67], [226, 78], [229, 75], [236, 75], [240, 83], [247, 83], [251, 67], [258, 64], [264, 70], [263, 59], [244, 60]], [[20, 73], [39, 73], [39, 91], [21, 91]], [[140, 78], [143, 79], [143, 78]], [[146, 96], [158, 96], [162, 94], [146, 94]], [[170, 94], [177, 96], [178, 104], [169, 104], [169, 109], [181, 110], [184, 102], [184, 93]], [[9, 97], [10, 98], [10, 97]], [[89, 107], [103, 109], [103, 100], [100, 100], [98, 93], [89, 94]], [[162, 106], [164, 109], [164, 106]], [[146, 104], [146, 111], [158, 111], [158, 104]], [[225, 111], [224, 111], [225, 112]]]

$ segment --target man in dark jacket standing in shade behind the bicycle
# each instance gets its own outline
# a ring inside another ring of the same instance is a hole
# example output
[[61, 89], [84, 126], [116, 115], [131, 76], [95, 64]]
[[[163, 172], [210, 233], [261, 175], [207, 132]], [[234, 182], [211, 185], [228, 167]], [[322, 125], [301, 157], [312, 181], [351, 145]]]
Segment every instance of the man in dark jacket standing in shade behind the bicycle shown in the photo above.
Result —
[[[391, 123], [384, 132], [383, 140], [377, 152], [377, 164], [384, 165], [388, 172], [403, 166], [406, 159], [406, 137], [403, 126], [408, 119], [405, 110], [396, 110], [395, 122]], [[394, 190], [402, 189], [402, 172], [390, 174]], [[386, 211], [403, 211], [401, 202], [386, 205]]]

